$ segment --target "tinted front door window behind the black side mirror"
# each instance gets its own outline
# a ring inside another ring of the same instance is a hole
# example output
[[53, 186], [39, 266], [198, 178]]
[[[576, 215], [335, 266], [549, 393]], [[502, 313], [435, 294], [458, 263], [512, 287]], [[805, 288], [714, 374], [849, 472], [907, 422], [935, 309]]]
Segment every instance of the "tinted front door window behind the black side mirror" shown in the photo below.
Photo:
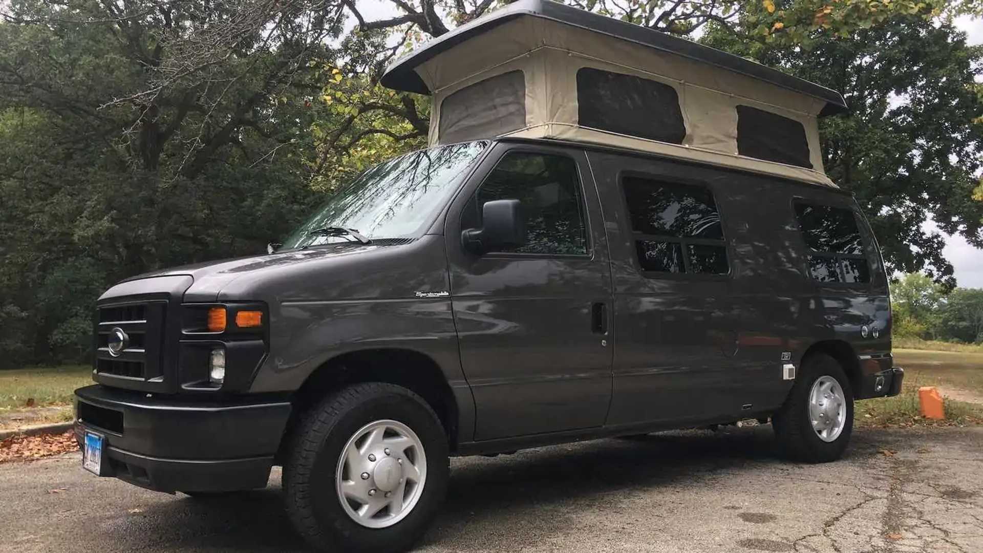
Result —
[[577, 163], [564, 155], [505, 154], [465, 208], [461, 228], [479, 228], [492, 200], [522, 202], [526, 244], [508, 252], [587, 254], [587, 223]]

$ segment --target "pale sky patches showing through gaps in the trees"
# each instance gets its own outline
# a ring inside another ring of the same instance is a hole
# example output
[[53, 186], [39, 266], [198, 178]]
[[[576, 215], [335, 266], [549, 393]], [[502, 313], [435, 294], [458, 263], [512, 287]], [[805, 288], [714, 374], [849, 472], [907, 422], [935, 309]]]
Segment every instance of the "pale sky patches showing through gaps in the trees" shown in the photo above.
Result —
[[[366, 21], [376, 21], [398, 15], [393, 4], [384, 0], [362, 0], [358, 6]], [[354, 18], [349, 19], [349, 25], [354, 25]], [[962, 16], [956, 18], [955, 26], [966, 32], [968, 43], [983, 44], [983, 19]], [[923, 228], [929, 231], [938, 231], [933, 221], [926, 222]], [[942, 234], [946, 236], [946, 248], [943, 250], [943, 255], [953, 264], [957, 284], [967, 288], [983, 288], [983, 250], [970, 246], [960, 236]]]

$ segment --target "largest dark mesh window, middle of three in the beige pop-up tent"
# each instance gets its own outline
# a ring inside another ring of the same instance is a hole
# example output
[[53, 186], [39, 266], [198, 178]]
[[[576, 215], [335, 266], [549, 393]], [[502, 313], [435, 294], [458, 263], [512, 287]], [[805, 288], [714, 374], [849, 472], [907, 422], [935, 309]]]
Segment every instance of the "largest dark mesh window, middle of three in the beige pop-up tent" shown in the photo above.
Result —
[[682, 144], [686, 125], [675, 89], [584, 67], [577, 71], [578, 121], [583, 127]]

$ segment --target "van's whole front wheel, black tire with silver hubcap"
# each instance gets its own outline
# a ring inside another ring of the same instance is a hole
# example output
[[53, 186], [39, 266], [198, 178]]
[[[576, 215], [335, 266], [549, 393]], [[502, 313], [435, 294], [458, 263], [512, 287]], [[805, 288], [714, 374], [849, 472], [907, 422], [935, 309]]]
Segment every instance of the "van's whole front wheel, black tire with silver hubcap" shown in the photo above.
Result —
[[447, 489], [447, 438], [434, 410], [391, 384], [338, 391], [301, 419], [283, 467], [287, 514], [322, 551], [402, 551]]

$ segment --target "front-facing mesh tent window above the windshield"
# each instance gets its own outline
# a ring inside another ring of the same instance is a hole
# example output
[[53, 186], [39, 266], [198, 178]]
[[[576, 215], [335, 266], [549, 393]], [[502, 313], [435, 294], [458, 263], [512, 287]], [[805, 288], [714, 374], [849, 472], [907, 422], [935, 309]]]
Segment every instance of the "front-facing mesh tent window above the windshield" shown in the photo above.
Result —
[[440, 144], [492, 138], [526, 126], [526, 77], [510, 71], [465, 87], [440, 102]]

